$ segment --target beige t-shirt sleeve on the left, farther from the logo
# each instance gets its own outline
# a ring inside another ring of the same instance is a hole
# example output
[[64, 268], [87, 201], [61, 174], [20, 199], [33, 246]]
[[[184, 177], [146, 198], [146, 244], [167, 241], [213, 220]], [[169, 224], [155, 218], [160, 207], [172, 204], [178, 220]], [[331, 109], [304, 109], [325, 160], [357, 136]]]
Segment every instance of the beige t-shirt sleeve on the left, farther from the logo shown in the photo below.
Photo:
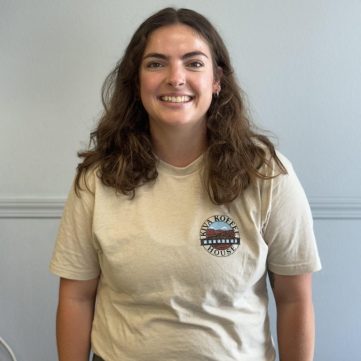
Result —
[[60, 277], [89, 280], [99, 275], [92, 223], [94, 212], [95, 172], [86, 174], [79, 195], [72, 186], [60, 222], [50, 271]]

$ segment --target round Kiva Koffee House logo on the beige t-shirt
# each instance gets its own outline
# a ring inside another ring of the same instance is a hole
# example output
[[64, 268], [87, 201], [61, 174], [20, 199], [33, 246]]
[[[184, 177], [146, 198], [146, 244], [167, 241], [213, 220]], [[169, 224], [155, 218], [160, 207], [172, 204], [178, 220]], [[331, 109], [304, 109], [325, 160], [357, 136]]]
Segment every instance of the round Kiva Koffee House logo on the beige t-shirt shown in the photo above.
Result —
[[240, 244], [237, 224], [225, 215], [212, 216], [202, 224], [200, 240], [201, 246], [211, 255], [230, 256]]

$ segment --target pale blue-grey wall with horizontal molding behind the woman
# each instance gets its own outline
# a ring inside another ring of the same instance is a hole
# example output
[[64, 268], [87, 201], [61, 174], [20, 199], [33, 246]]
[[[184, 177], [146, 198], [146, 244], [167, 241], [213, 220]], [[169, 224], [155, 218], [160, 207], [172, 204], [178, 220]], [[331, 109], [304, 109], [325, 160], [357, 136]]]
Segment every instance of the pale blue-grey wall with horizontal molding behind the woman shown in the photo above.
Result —
[[[168, 5], [208, 16], [255, 121], [274, 132], [311, 200], [319, 361], [361, 339], [361, 2], [0, 0], [0, 336], [18, 361], [55, 359], [47, 271], [76, 152], [136, 26]], [[53, 218], [49, 218], [53, 217]], [[0, 359], [7, 361], [0, 349]]]

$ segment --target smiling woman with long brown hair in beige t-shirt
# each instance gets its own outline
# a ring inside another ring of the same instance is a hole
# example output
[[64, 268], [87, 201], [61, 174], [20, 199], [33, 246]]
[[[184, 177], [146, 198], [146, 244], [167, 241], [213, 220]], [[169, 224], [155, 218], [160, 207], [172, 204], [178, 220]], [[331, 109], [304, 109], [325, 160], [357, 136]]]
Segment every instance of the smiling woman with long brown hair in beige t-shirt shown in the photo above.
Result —
[[281, 360], [311, 360], [309, 206], [251, 129], [213, 26], [187, 9], [154, 14], [103, 99], [51, 262], [59, 359], [274, 360], [268, 272]]

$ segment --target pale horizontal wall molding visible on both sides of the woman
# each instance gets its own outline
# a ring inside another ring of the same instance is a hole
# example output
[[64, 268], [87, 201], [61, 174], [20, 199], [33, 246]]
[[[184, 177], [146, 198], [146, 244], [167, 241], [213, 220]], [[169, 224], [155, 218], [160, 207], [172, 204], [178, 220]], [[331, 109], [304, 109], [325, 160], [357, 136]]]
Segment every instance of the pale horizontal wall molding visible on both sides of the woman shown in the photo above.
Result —
[[[60, 218], [65, 198], [0, 198], [0, 218]], [[313, 218], [361, 219], [361, 197], [310, 197]]]

